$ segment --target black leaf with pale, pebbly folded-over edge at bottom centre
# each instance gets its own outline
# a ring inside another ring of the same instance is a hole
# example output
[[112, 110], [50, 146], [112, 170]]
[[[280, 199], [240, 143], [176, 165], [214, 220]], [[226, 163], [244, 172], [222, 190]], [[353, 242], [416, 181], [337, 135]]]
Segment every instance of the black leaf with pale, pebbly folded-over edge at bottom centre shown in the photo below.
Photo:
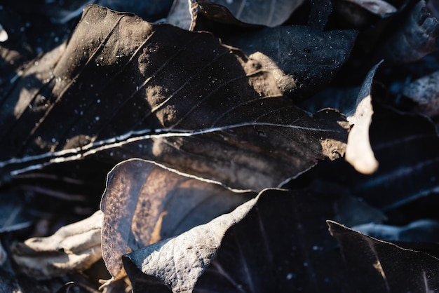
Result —
[[[346, 203], [360, 208], [339, 194], [266, 189], [230, 214], [127, 254], [123, 263], [134, 292], [354, 292], [325, 225], [352, 220], [339, 210]], [[366, 210], [363, 220], [375, 213]]]

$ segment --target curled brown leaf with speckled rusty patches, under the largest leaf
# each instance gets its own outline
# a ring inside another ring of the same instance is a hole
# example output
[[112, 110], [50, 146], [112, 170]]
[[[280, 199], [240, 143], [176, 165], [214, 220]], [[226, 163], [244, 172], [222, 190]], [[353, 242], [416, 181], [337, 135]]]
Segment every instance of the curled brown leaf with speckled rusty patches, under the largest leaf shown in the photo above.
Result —
[[105, 264], [119, 279], [123, 254], [205, 224], [252, 196], [150, 161], [124, 161], [109, 172], [102, 197]]

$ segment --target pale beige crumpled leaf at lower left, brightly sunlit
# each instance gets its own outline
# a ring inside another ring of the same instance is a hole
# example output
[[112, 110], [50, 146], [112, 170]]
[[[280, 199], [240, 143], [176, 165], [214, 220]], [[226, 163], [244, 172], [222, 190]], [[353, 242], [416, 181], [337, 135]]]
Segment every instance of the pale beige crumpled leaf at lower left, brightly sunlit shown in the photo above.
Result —
[[34, 278], [53, 278], [83, 271], [102, 257], [102, 212], [63, 226], [52, 236], [29, 238], [11, 246], [20, 271]]

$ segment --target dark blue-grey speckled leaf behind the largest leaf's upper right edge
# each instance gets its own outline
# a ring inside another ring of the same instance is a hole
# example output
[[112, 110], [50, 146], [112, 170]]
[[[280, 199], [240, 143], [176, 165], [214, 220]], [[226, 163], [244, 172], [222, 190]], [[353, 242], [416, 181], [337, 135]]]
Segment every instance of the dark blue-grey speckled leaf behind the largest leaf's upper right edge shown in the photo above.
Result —
[[305, 26], [282, 26], [224, 36], [273, 73], [282, 93], [304, 100], [327, 85], [351, 53], [353, 30], [321, 32]]

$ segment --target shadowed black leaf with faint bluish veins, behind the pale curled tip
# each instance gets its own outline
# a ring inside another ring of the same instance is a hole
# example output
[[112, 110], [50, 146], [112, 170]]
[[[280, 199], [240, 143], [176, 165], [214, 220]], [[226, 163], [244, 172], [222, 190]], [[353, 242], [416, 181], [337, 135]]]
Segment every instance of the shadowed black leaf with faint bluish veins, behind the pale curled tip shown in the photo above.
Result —
[[341, 184], [351, 194], [392, 214], [390, 220], [398, 224], [419, 219], [419, 214], [436, 218], [433, 206], [437, 204], [435, 198], [438, 194], [439, 137], [431, 121], [375, 103], [370, 142], [379, 161], [379, 168], [373, 175], [360, 175], [341, 160], [333, 164], [322, 162], [292, 182], [292, 186], [300, 186], [304, 182], [309, 184], [309, 179], [313, 181], [316, 178]]

